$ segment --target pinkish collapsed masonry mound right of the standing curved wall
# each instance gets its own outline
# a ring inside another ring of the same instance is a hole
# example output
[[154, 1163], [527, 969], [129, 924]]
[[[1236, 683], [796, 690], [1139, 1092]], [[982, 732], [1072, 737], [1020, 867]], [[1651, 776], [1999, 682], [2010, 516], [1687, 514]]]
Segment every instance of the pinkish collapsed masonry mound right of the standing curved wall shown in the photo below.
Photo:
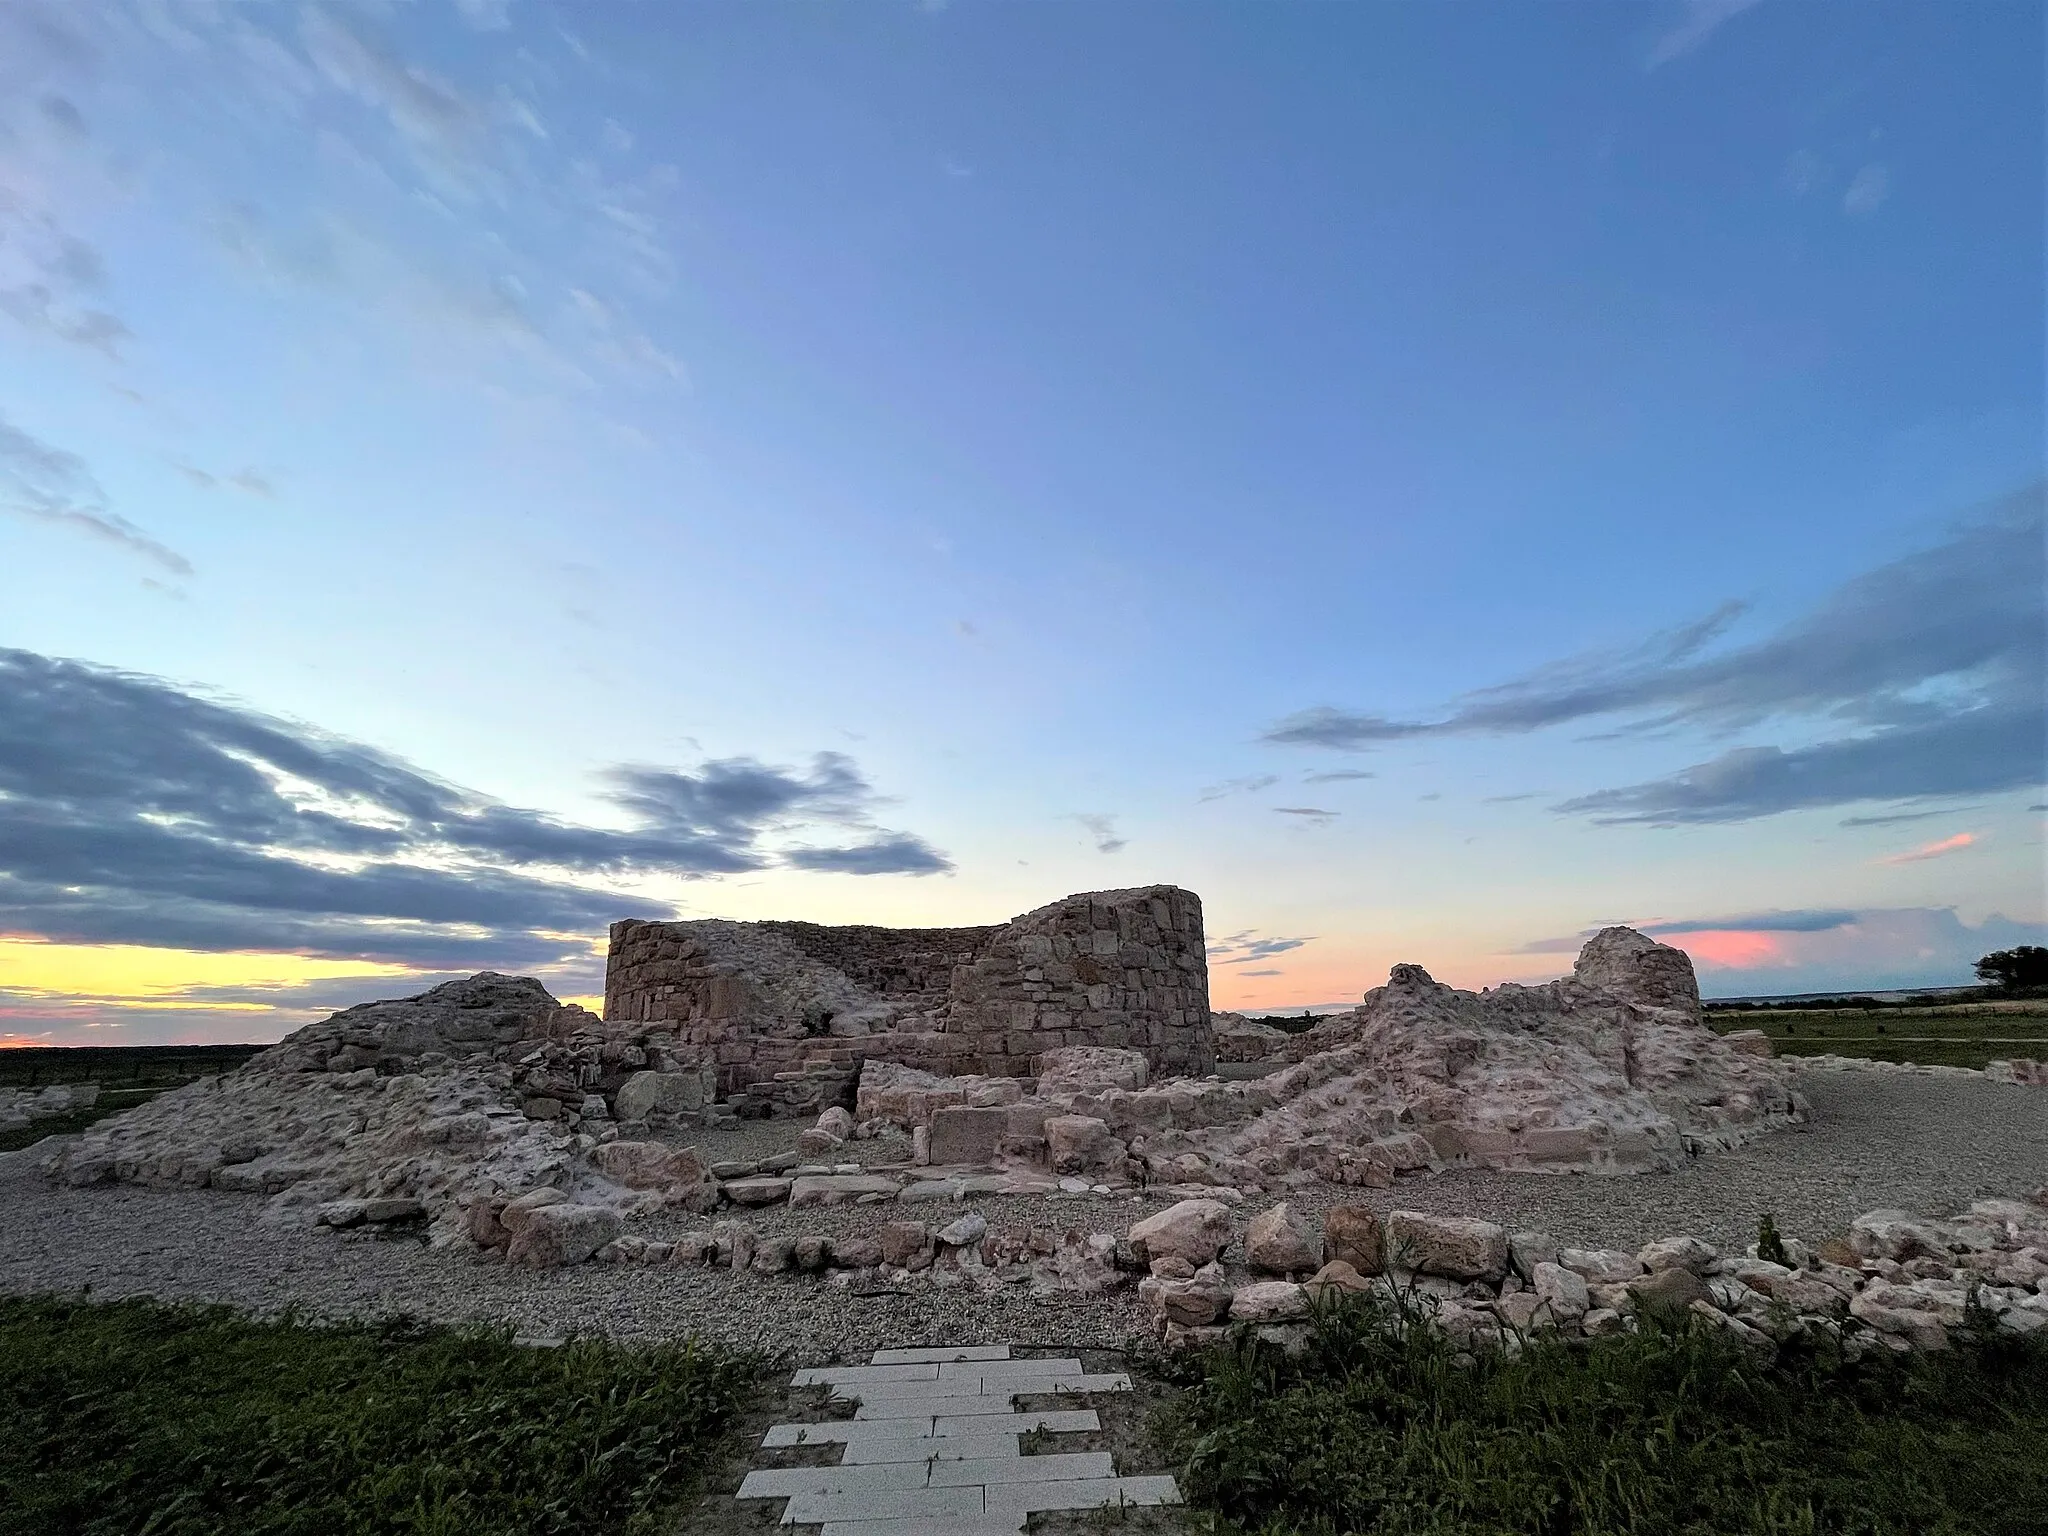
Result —
[[[932, 1161], [1120, 1184], [1391, 1186], [1436, 1167], [1636, 1174], [1806, 1114], [1784, 1067], [1706, 1028], [1692, 961], [1608, 928], [1573, 975], [1470, 993], [1415, 965], [1286, 1038], [1253, 1081], [1149, 1081], [1102, 1047], [1049, 1051], [1036, 1083], [862, 1067], [856, 1135], [897, 1126]], [[942, 1149], [946, 1155], [942, 1155]]]

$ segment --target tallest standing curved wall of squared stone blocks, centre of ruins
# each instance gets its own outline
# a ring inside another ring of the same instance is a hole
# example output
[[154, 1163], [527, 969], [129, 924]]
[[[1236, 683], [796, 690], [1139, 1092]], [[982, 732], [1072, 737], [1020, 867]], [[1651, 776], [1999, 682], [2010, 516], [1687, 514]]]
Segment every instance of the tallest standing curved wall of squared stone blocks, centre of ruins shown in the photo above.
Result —
[[801, 1112], [850, 1098], [866, 1059], [1032, 1077], [1069, 1044], [1214, 1071], [1202, 901], [1085, 891], [987, 928], [621, 922], [604, 1018], [674, 1036], [719, 1090]]

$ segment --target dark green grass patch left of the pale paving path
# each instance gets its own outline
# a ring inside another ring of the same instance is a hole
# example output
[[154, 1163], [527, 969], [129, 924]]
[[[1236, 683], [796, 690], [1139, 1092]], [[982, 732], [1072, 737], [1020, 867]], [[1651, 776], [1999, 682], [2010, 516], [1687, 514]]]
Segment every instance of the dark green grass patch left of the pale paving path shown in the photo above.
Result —
[[756, 1384], [692, 1346], [0, 1298], [0, 1536], [647, 1536]]

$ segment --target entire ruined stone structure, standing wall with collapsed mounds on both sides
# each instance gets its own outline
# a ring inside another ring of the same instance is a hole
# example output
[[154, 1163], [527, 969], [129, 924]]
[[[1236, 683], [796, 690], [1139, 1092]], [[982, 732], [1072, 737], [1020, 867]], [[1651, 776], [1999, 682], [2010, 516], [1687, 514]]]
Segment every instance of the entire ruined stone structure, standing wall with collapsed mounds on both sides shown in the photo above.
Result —
[[[1305, 1034], [1225, 1016], [1229, 1053], [1268, 1067], [1235, 1081], [1210, 1075], [1202, 909], [1176, 887], [989, 928], [678, 922], [612, 940], [604, 1018], [492, 973], [365, 1004], [55, 1139], [43, 1165], [266, 1194], [274, 1217], [338, 1227], [418, 1221], [555, 1264], [659, 1206], [1634, 1174], [1804, 1114], [1780, 1063], [1702, 1024], [1686, 954], [1626, 928], [1542, 987], [1395, 967]], [[764, 1163], [690, 1145], [768, 1110], [817, 1122]]]

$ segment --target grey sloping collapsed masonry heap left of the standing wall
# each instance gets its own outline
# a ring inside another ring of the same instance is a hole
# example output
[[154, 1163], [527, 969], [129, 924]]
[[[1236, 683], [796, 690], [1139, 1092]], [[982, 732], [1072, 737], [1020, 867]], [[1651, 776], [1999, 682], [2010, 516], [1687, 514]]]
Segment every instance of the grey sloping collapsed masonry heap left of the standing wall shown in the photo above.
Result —
[[426, 1217], [453, 1241], [473, 1235], [471, 1204], [535, 1188], [612, 1212], [705, 1200], [694, 1157], [645, 1137], [709, 1114], [705, 1073], [674, 1061], [668, 1036], [485, 971], [309, 1024], [66, 1139], [45, 1171], [268, 1194], [281, 1214], [319, 1208], [334, 1225]]

